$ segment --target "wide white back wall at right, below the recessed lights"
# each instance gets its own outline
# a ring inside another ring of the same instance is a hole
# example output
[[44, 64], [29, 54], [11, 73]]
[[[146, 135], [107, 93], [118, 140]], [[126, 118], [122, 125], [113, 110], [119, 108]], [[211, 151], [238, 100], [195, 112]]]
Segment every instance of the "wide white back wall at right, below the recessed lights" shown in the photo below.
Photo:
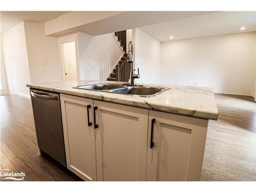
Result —
[[159, 82], [253, 94], [254, 33], [162, 42]]

